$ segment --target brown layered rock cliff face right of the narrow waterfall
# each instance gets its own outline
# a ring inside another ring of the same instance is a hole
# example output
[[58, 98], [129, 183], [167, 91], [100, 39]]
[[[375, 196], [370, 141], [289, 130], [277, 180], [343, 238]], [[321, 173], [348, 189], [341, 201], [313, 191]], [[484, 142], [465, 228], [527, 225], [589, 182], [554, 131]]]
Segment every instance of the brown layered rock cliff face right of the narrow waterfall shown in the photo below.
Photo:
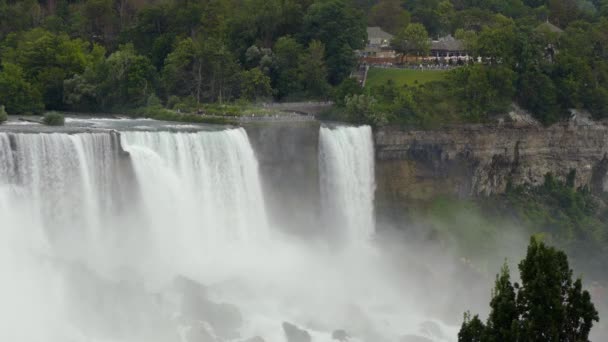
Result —
[[431, 131], [375, 132], [377, 200], [425, 201], [438, 195], [503, 192], [509, 181], [539, 184], [545, 174], [608, 190], [608, 126], [564, 123], [466, 125]]

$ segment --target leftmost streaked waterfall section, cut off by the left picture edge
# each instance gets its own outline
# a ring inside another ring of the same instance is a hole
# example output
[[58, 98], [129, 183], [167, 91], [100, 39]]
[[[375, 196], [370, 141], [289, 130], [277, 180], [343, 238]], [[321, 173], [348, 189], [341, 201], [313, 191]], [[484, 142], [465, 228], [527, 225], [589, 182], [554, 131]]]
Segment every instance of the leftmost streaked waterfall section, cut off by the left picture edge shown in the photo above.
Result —
[[[120, 203], [117, 135], [0, 133], [0, 185], [58, 250], [95, 245]], [[59, 246], [66, 247], [65, 249]], [[88, 250], [87, 253], [91, 251]]]

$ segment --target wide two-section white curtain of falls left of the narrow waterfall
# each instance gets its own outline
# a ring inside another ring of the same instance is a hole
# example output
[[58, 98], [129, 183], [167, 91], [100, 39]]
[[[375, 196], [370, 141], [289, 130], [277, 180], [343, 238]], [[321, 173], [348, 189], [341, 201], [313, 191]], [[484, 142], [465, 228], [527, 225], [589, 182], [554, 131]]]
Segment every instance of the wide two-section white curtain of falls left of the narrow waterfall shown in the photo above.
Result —
[[69, 259], [147, 242], [155, 243], [150, 250], [200, 259], [211, 248], [268, 238], [257, 160], [243, 129], [120, 137], [0, 133], [6, 210], [24, 203], [21, 216], [35, 221], [27, 227]]

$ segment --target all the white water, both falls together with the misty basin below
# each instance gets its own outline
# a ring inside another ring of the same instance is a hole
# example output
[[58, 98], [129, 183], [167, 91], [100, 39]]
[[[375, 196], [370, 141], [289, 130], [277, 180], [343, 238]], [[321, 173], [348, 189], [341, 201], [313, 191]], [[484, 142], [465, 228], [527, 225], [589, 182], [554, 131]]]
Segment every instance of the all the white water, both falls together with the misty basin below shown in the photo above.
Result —
[[318, 150], [309, 239], [269, 223], [242, 128], [0, 132], [0, 340], [454, 340], [374, 243], [371, 129]]

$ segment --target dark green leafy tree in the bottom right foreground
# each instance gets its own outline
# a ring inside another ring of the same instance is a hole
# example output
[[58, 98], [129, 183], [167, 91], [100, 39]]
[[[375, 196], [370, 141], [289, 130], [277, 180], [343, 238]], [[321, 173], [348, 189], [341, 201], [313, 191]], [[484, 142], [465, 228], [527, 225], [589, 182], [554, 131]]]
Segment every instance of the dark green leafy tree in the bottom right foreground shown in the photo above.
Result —
[[521, 285], [512, 287], [503, 267], [488, 324], [465, 315], [459, 341], [589, 341], [598, 312], [581, 279], [572, 281], [566, 254], [532, 237], [519, 271]]

